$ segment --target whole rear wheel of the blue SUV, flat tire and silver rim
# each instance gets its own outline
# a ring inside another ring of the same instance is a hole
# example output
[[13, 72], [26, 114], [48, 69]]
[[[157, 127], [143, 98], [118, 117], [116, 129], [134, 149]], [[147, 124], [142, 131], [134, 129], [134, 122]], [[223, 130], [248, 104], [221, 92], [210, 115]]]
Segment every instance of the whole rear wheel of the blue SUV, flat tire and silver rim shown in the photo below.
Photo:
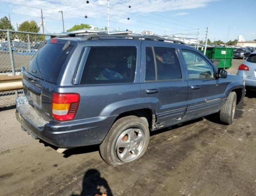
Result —
[[100, 145], [103, 160], [112, 166], [137, 160], [149, 144], [149, 127], [137, 116], [118, 119]]

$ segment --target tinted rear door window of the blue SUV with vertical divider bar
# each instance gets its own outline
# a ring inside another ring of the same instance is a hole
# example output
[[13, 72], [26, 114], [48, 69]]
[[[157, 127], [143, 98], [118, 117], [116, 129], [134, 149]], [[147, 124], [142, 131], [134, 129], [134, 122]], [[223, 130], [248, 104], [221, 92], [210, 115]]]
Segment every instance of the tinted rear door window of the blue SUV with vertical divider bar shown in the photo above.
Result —
[[145, 81], [181, 78], [181, 67], [174, 48], [153, 47], [152, 51], [152, 47], [146, 47]]

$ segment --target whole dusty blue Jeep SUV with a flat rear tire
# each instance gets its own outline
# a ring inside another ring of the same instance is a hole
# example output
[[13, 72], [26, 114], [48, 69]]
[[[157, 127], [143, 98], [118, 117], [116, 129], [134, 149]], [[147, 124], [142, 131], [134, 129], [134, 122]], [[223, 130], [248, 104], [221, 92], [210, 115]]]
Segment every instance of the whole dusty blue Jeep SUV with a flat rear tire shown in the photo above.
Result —
[[[169, 40], [168, 40], [169, 41]], [[231, 124], [243, 79], [158, 36], [53, 38], [23, 73], [23, 130], [65, 150], [100, 144], [110, 165], [141, 157], [149, 132], [218, 113]]]

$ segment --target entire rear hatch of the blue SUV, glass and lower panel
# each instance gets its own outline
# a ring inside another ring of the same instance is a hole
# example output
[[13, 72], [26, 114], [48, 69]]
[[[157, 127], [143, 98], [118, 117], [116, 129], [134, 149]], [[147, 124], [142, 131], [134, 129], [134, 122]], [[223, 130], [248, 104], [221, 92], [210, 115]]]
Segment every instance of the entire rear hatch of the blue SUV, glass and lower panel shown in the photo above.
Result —
[[46, 119], [52, 119], [53, 90], [73, 47], [71, 41], [63, 39], [48, 41], [23, 74], [23, 90], [29, 104]]

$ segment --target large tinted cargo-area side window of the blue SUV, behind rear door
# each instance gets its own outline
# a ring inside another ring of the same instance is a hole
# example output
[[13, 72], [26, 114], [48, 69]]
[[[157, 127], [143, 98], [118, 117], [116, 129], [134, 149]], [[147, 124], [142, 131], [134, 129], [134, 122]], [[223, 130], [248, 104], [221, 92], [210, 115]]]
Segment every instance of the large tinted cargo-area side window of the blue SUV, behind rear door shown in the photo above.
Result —
[[134, 46], [91, 47], [80, 84], [133, 82], [136, 59]]

